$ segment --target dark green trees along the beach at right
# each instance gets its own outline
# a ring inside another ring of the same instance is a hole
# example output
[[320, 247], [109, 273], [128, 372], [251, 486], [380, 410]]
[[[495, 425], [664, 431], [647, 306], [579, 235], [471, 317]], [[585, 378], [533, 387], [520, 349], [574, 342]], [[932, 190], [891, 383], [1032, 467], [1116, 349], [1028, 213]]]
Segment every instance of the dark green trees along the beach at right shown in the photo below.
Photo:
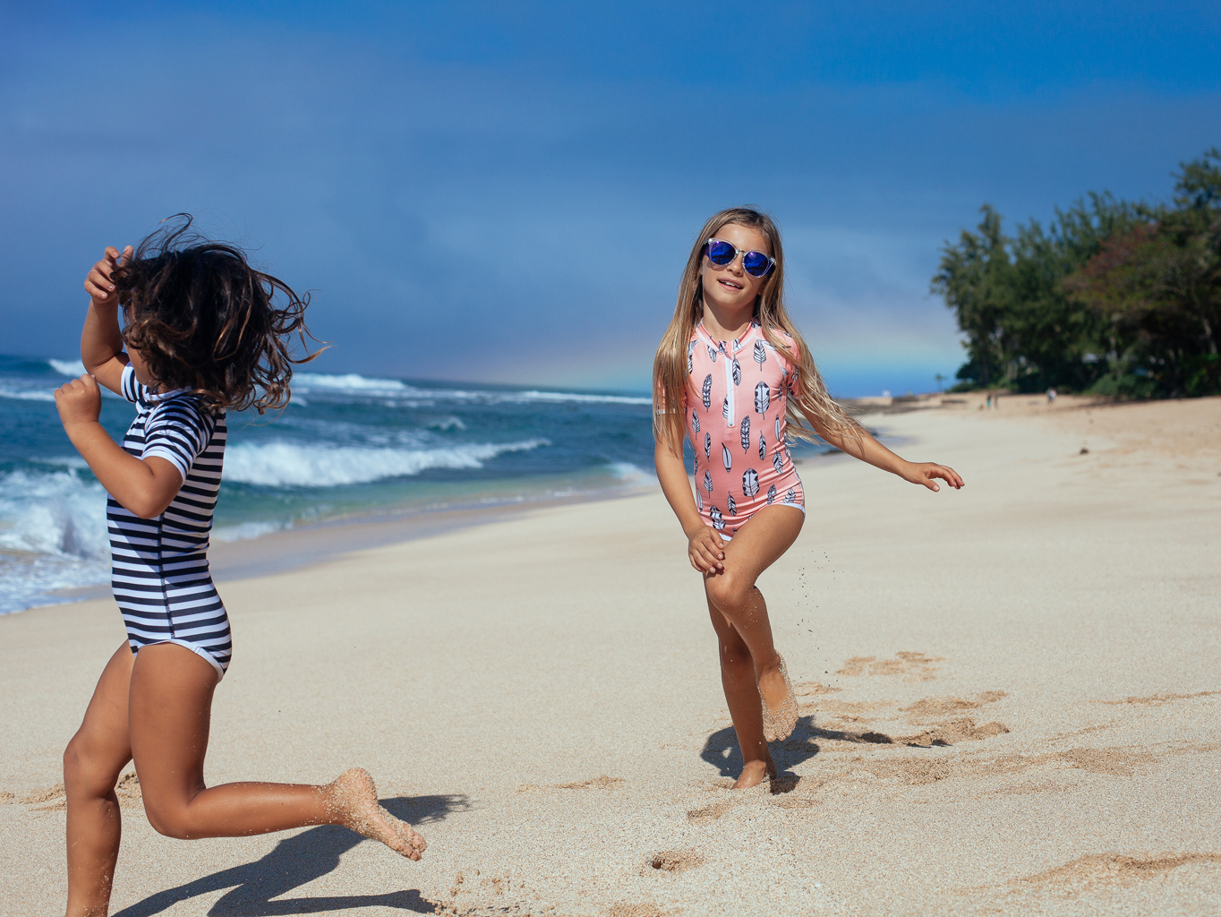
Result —
[[1168, 204], [1090, 193], [1013, 236], [984, 204], [932, 282], [966, 336], [956, 388], [1221, 393], [1221, 150], [1175, 179]]

